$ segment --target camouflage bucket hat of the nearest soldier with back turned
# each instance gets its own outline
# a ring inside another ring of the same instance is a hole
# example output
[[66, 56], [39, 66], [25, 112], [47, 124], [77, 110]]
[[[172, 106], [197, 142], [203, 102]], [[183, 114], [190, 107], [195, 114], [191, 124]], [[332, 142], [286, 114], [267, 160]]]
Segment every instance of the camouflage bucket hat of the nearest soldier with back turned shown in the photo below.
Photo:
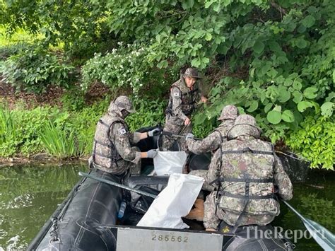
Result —
[[228, 131], [228, 139], [235, 139], [242, 135], [254, 136], [256, 139], [261, 136], [261, 129], [257, 126], [256, 119], [251, 115], [238, 116], [234, 126]]

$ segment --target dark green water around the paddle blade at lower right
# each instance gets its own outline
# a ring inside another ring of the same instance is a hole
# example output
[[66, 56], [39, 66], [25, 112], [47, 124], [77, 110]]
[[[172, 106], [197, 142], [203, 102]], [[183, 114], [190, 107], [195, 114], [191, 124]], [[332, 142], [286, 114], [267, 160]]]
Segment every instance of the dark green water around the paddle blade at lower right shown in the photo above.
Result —
[[[293, 199], [290, 201], [302, 216], [319, 223], [331, 233], [335, 233], [334, 180], [334, 173], [311, 172], [307, 182], [294, 185]], [[276, 218], [274, 225], [282, 226], [284, 230], [301, 230], [299, 232], [304, 236], [295, 243], [296, 250], [322, 250], [298, 216], [284, 204], [281, 204], [281, 216]], [[298, 231], [295, 233], [300, 234]]]

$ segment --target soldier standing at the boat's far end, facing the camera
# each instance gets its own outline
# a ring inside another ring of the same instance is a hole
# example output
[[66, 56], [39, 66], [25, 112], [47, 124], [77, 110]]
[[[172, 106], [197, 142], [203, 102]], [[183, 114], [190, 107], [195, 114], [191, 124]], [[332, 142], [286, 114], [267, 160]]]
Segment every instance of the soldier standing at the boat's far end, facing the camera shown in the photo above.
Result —
[[[194, 68], [188, 68], [180, 80], [172, 84], [169, 103], [165, 112], [165, 132], [182, 135], [192, 132], [190, 115], [192, 115], [196, 102], [199, 100], [199, 90], [194, 86], [198, 78], [200, 78], [198, 71]], [[206, 98], [201, 97], [201, 101], [206, 102]], [[163, 150], [169, 150], [175, 141], [176, 139], [172, 136], [164, 135]], [[182, 150], [185, 150], [185, 140], [178, 139], [178, 141]]]

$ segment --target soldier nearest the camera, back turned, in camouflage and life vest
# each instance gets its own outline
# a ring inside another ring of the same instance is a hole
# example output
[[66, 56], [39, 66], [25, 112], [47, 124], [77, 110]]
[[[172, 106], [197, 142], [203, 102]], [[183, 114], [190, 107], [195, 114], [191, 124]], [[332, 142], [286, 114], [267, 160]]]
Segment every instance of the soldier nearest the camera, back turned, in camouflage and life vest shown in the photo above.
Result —
[[[207, 182], [217, 180], [217, 192], [205, 202], [204, 226], [217, 228], [220, 220], [234, 226], [264, 226], [279, 214], [274, 197], [292, 198], [292, 184], [283, 170], [274, 146], [259, 139], [261, 130], [254, 117], [240, 115], [228, 132], [227, 141], [214, 154], [209, 165]], [[249, 196], [247, 196], [249, 194]]]

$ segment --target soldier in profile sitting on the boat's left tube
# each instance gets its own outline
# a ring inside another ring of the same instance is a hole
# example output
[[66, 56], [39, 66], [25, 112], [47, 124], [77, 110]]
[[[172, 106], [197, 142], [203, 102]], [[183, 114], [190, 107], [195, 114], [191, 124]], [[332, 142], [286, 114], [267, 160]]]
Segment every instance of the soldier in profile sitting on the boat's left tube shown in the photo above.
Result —
[[[89, 160], [90, 166], [112, 173], [114, 175], [126, 175], [129, 169], [135, 169], [139, 173], [141, 158], [154, 158], [155, 150], [140, 152], [139, 148], [131, 147], [131, 144], [146, 139], [159, 133], [159, 129], [149, 132], [128, 131], [124, 119], [131, 112], [135, 112], [131, 100], [126, 96], [119, 96], [110, 103], [108, 112], [99, 119], [93, 142], [93, 153]], [[131, 170], [132, 171], [132, 170]]]

